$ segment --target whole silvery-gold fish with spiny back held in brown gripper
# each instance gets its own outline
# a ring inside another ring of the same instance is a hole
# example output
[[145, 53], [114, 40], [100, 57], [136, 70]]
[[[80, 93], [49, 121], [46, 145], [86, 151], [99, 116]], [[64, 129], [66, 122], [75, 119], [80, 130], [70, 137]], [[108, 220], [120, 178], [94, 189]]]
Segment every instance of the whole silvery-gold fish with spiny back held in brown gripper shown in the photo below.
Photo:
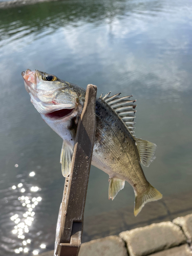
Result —
[[[34, 107], [63, 140], [60, 163], [62, 175], [67, 177], [86, 90], [38, 70], [27, 69], [22, 76]], [[153, 162], [157, 145], [135, 137], [136, 100], [131, 99], [132, 95], [120, 97], [120, 93], [113, 96], [110, 93], [96, 99], [92, 165], [109, 175], [109, 199], [116, 197], [125, 181], [131, 184], [137, 216], [145, 203], [162, 198], [146, 180], [141, 167]]]

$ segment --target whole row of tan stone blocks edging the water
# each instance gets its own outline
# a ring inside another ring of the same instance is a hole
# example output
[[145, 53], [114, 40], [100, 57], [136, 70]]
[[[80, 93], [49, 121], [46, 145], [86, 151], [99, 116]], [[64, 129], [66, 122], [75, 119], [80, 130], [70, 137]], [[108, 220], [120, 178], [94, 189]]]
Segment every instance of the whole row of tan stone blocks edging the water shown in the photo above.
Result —
[[192, 214], [83, 243], [79, 256], [192, 256], [191, 238]]

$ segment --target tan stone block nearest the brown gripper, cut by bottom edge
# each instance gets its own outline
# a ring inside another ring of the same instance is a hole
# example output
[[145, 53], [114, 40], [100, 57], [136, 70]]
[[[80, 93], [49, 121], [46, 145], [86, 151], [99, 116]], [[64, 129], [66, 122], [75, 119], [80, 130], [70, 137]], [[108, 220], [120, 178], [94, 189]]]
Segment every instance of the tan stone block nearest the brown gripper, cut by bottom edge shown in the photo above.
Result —
[[117, 236], [96, 239], [81, 245], [79, 256], [127, 256], [125, 243]]

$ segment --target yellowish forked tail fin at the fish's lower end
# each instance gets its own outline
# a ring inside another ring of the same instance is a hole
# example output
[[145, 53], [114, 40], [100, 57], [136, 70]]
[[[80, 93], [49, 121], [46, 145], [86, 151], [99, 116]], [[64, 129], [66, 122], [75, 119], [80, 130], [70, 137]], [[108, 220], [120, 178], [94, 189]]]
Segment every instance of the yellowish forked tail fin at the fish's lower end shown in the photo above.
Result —
[[140, 195], [135, 195], [134, 215], [137, 216], [143, 206], [151, 201], [156, 201], [162, 198], [161, 193], [149, 183], [150, 187]]

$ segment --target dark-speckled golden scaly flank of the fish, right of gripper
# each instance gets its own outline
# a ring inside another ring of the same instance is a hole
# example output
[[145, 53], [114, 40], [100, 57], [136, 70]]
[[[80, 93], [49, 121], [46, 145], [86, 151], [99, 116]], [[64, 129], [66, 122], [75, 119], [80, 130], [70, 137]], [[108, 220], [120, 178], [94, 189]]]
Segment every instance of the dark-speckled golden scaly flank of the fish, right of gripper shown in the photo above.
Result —
[[[139, 159], [134, 138], [118, 115], [100, 99], [96, 102], [96, 119], [97, 130], [103, 132], [97, 133], [96, 131], [94, 151], [96, 149], [97, 152], [95, 155], [102, 155], [103, 163], [109, 165], [114, 174], [127, 180], [132, 186], [136, 183], [145, 184], [144, 174], [141, 177], [138, 177], [137, 174], [137, 169], [139, 169], [138, 172], [142, 172], [142, 168], [139, 161], [134, 161], [134, 159]], [[116, 161], [113, 161], [112, 164], [113, 159]], [[107, 170], [105, 172], [108, 173]], [[131, 179], [130, 174], [134, 178]], [[117, 177], [113, 175], [110, 178]]]

